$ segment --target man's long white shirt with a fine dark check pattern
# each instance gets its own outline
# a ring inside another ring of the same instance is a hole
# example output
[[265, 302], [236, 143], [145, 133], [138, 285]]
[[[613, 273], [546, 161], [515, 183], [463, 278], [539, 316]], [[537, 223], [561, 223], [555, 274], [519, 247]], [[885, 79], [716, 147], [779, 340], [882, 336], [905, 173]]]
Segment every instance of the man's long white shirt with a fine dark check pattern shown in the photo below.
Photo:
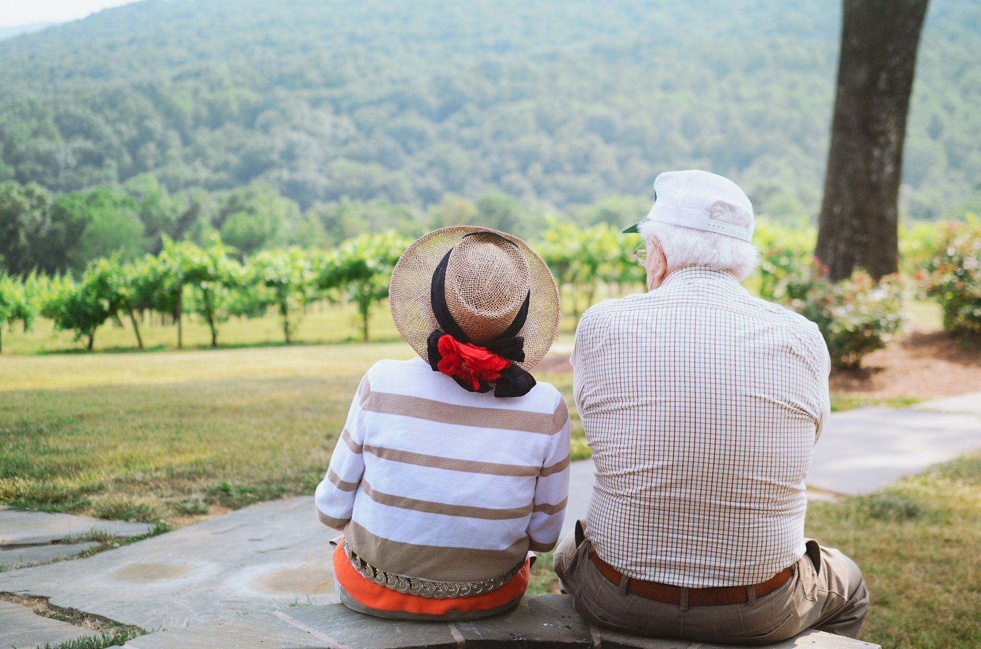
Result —
[[815, 324], [689, 266], [589, 309], [572, 363], [596, 466], [586, 534], [603, 560], [704, 588], [800, 559], [804, 477], [830, 413]]

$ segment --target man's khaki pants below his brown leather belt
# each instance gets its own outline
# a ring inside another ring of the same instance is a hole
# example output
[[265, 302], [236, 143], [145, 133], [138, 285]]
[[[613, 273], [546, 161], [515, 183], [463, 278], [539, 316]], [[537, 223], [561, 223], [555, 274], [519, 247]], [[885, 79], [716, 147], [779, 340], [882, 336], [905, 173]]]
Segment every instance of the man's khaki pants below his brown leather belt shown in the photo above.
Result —
[[626, 633], [730, 644], [776, 642], [807, 628], [857, 637], [868, 612], [858, 567], [815, 541], [807, 542], [787, 583], [758, 599], [720, 606], [685, 607], [629, 593], [626, 583], [620, 588], [599, 572], [591, 551], [589, 539], [569, 534], [555, 550], [555, 574], [590, 624]]

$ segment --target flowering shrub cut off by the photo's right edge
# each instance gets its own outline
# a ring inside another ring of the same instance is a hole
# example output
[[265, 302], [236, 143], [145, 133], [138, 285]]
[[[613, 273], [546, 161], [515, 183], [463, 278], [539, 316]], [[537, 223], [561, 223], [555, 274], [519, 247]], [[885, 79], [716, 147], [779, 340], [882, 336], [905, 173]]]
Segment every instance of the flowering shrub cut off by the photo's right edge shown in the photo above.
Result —
[[944, 310], [944, 328], [981, 332], [981, 221], [968, 215], [944, 228], [923, 280]]

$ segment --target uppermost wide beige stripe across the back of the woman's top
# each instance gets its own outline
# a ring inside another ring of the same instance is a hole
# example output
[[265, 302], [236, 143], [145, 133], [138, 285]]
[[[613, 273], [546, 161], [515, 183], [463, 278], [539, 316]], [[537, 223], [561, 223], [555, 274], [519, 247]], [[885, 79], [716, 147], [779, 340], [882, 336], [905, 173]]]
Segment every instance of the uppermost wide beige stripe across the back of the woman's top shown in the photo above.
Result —
[[[413, 417], [430, 422], [439, 422], [440, 424], [525, 430], [527, 432], [541, 432], [546, 435], [554, 435], [561, 430], [562, 426], [565, 425], [565, 420], [568, 419], [566, 416], [565, 419], [562, 419], [561, 424], [556, 425], [559, 411], [555, 411], [553, 415], [548, 415], [524, 410], [457, 406], [433, 399], [392, 392], [371, 392], [367, 399], [362, 399], [362, 403], [364, 410], [384, 415]], [[562, 409], [564, 409], [564, 405]]]

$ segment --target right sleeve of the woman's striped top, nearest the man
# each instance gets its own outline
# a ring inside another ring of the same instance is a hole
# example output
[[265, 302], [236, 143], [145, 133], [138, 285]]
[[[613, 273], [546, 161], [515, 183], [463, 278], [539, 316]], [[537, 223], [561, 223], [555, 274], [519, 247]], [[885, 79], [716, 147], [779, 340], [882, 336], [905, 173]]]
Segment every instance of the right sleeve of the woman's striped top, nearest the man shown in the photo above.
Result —
[[536, 552], [547, 552], [558, 543], [569, 504], [569, 409], [561, 395], [555, 407], [555, 424], [558, 432], [551, 436], [545, 451], [528, 523], [528, 547]]

